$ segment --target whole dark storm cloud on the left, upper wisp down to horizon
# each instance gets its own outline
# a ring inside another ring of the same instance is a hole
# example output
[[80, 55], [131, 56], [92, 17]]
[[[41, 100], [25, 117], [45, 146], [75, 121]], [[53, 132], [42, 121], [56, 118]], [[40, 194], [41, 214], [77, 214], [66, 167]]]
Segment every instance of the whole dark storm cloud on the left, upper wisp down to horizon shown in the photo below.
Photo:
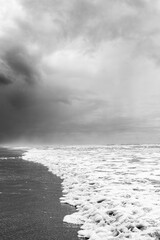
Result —
[[44, 84], [48, 76], [37, 55], [27, 49], [23, 29], [11, 36], [6, 32], [0, 46], [0, 142], [45, 139], [60, 122], [59, 106], [69, 103], [68, 96]]

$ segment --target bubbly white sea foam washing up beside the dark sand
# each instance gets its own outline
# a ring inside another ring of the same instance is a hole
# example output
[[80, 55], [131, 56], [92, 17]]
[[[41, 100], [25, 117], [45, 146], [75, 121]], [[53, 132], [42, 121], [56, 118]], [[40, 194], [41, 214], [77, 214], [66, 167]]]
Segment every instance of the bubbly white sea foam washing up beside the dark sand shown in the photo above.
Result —
[[90, 240], [160, 239], [160, 146], [31, 149], [24, 159], [63, 179], [62, 203], [77, 211], [64, 221], [81, 224]]

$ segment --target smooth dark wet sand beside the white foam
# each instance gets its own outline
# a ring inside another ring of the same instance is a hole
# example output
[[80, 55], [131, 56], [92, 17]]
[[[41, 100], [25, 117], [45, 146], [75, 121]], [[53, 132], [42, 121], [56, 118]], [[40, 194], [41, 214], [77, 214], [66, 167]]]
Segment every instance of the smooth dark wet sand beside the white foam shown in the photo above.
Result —
[[61, 180], [40, 164], [0, 149], [0, 239], [78, 240], [78, 226], [63, 223], [75, 211], [62, 205]]

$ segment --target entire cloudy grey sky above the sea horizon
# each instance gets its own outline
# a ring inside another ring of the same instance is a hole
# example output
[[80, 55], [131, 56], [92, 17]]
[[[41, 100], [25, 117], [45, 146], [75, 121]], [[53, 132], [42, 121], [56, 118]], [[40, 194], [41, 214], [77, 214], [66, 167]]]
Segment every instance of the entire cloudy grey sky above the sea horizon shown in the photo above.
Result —
[[160, 142], [159, 0], [0, 0], [0, 143]]

